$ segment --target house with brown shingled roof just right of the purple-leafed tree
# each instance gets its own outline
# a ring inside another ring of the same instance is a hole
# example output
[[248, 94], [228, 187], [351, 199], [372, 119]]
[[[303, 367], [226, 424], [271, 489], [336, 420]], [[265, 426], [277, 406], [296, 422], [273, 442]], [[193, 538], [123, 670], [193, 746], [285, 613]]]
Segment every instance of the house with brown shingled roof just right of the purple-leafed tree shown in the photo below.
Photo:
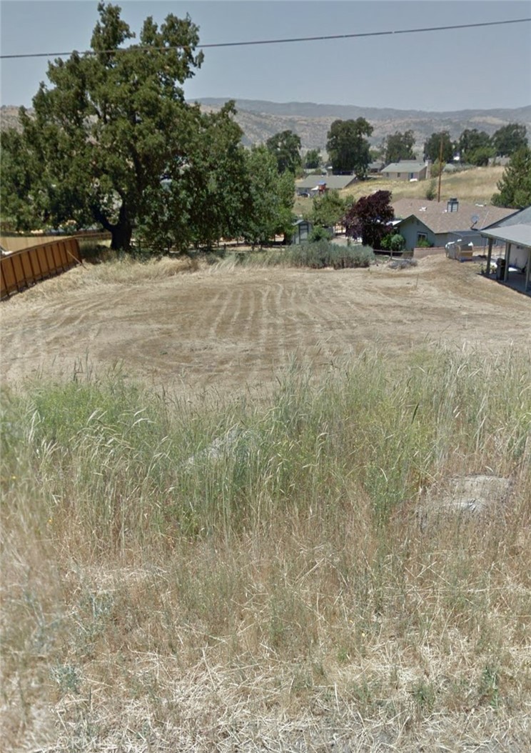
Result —
[[428, 201], [399, 199], [393, 203], [396, 232], [405, 238], [411, 251], [419, 242], [444, 247], [447, 243], [472, 243], [486, 248], [487, 239], [481, 230], [513, 214], [514, 209], [460, 202], [457, 199]]

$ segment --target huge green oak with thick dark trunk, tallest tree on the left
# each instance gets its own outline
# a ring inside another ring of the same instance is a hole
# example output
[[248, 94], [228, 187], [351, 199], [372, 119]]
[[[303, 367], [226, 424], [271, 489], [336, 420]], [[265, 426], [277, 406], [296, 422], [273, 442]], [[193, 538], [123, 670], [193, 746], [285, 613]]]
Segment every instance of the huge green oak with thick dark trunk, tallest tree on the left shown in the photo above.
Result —
[[139, 220], [171, 221], [165, 213], [189, 233], [193, 197], [184, 188], [197, 173], [198, 140], [213, 127], [182, 88], [202, 64], [198, 28], [189, 16], [169, 14], [161, 26], [148, 17], [139, 44], [123, 50], [135, 35], [120, 8], [100, 2], [98, 12], [94, 53], [50, 63], [50, 87], [41, 84], [33, 99], [35, 117], [20, 111], [23, 133], [18, 142], [7, 137], [8, 168], [21, 160], [27, 180], [2, 170], [2, 194], [16, 191], [10, 212], [19, 227], [30, 214], [37, 225], [96, 221], [111, 232], [112, 248], [129, 248]]

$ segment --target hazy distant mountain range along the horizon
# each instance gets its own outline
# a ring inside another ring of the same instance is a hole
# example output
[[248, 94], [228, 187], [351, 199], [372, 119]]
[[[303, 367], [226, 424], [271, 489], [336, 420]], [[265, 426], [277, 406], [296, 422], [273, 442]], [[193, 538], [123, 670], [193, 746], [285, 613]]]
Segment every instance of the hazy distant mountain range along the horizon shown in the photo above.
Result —
[[[205, 110], [217, 110], [229, 97], [199, 99]], [[396, 110], [393, 108], [359, 107], [357, 105], [319, 105], [314, 102], [267, 102], [262, 99], [237, 99], [236, 120], [244, 132], [246, 145], [263, 143], [279, 131], [292, 130], [302, 141], [302, 148], [326, 145], [326, 133], [337, 119], [365, 117], [374, 127], [370, 142], [380, 144], [395, 131], [412, 130], [418, 149], [435, 131], [448, 130], [457, 139], [466, 128], [494, 133], [507, 123], [522, 123], [531, 137], [531, 105], [515, 109], [457, 110], [434, 112]], [[17, 107], [0, 108], [2, 128], [17, 127]]]

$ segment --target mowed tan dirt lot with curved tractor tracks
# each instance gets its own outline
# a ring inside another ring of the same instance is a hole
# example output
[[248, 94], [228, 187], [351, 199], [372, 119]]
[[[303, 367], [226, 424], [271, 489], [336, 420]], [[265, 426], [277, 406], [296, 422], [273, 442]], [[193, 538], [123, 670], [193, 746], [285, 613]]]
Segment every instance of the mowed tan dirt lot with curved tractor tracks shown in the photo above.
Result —
[[[2, 303], [4, 383], [120, 367], [181, 395], [262, 389], [293, 356], [317, 369], [377, 345], [500, 352], [531, 343], [531, 298], [444, 256], [408, 270], [209, 268], [73, 285], [71, 270]], [[83, 281], [86, 282], [86, 281]]]

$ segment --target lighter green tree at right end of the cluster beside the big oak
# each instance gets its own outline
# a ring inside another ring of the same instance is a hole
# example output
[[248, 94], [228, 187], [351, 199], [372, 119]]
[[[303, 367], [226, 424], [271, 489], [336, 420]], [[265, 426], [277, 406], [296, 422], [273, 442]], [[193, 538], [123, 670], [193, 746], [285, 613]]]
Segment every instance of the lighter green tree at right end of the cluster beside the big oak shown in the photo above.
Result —
[[252, 245], [271, 241], [275, 235], [290, 236], [293, 227], [295, 179], [279, 173], [275, 156], [265, 146], [245, 153], [245, 202], [241, 235]]

